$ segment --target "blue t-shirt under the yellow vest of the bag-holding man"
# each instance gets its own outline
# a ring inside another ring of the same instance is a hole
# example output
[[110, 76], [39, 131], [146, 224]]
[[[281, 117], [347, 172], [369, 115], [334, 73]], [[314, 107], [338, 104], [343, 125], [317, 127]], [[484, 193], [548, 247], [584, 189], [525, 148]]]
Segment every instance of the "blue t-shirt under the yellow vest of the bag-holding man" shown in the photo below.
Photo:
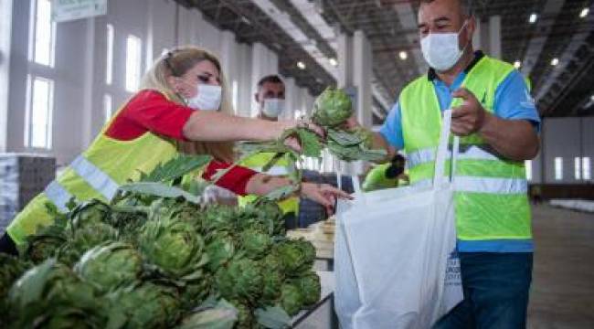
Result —
[[[451, 93], [461, 87], [466, 74], [466, 71], [462, 71], [450, 87], [436, 76], [432, 80], [438, 100], [440, 101], [441, 111], [450, 108], [452, 101]], [[495, 90], [493, 112], [494, 115], [502, 119], [527, 120], [532, 122], [536, 131], [540, 131], [540, 117], [536, 110], [535, 101], [530, 96], [530, 91], [524, 78], [517, 70], [512, 71], [497, 87], [497, 90]], [[392, 146], [399, 150], [404, 149], [399, 101], [387, 115], [386, 121], [379, 133]], [[458, 251], [461, 252], [532, 252], [533, 249], [532, 240], [458, 241]]]

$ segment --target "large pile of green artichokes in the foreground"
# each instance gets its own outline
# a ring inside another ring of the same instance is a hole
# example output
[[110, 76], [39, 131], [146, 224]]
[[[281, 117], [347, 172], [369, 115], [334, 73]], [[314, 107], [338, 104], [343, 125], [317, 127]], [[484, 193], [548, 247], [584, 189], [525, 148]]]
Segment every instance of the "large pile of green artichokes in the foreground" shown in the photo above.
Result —
[[0, 328], [281, 328], [319, 301], [313, 246], [285, 237], [275, 203], [143, 184], [51, 209], [19, 257], [0, 254]]

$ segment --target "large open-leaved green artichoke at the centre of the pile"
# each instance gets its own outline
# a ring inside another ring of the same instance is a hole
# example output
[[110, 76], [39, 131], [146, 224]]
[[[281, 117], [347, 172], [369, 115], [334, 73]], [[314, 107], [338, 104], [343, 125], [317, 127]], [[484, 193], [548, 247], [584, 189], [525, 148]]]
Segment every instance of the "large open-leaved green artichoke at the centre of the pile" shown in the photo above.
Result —
[[207, 263], [204, 239], [191, 224], [170, 218], [150, 220], [139, 238], [144, 259], [165, 276], [195, 280]]

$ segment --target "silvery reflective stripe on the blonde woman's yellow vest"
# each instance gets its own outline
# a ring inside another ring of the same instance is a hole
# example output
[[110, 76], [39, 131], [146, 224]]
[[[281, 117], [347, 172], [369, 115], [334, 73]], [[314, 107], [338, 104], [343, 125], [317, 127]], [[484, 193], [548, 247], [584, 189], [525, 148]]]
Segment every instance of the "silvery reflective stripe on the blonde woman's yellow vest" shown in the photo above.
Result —
[[[69, 167], [107, 200], [111, 200], [111, 197], [115, 196], [118, 191], [119, 185], [82, 155], [74, 159]], [[45, 193], [60, 211], [68, 211], [66, 204], [72, 198], [72, 195], [57, 180], [54, 180], [46, 187]]]

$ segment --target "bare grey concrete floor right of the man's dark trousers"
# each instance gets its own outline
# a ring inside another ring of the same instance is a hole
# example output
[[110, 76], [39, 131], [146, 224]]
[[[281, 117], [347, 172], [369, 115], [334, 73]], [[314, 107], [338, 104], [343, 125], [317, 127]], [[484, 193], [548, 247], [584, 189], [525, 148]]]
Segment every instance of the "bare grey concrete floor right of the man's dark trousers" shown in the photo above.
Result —
[[534, 208], [531, 329], [594, 328], [594, 214]]

